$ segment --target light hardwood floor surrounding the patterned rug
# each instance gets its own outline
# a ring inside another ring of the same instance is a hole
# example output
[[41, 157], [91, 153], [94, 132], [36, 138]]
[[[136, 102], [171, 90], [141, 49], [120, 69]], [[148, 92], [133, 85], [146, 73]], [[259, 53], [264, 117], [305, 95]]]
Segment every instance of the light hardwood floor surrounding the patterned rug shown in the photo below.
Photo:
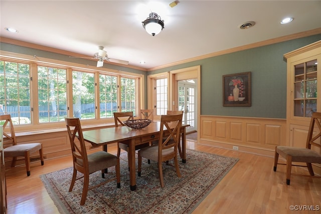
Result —
[[[285, 183], [285, 166], [273, 171], [273, 158], [239, 151], [199, 145], [188, 141], [188, 148], [208, 153], [237, 157], [238, 163], [206, 196], [193, 213], [320, 213], [321, 179], [292, 176]], [[116, 153], [116, 146], [108, 151]], [[187, 160], [188, 163], [188, 160]], [[31, 176], [26, 176], [25, 166], [8, 168], [8, 213], [58, 213], [48, 195], [40, 175], [72, 166], [71, 156], [31, 164]], [[296, 172], [304, 169], [294, 167]], [[70, 182], [70, 180], [66, 180]], [[298, 211], [291, 211], [295, 205]], [[314, 208], [319, 210], [304, 211]]]

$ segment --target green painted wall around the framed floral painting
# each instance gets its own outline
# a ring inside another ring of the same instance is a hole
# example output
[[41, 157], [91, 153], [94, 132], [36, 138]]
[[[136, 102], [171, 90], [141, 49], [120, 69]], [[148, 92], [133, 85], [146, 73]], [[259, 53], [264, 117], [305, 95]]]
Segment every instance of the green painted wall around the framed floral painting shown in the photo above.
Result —
[[[201, 114], [286, 118], [286, 62], [283, 55], [321, 40], [314, 35], [287, 42], [212, 57], [149, 74], [201, 65]], [[223, 107], [222, 76], [251, 72], [252, 105]]]

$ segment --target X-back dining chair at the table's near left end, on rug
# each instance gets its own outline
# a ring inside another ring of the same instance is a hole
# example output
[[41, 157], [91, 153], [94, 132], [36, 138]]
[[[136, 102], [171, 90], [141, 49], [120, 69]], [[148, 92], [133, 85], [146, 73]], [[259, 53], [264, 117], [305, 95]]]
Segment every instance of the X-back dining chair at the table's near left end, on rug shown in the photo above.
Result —
[[[105, 151], [97, 151], [91, 154], [87, 154], [79, 118], [65, 118], [65, 122], [71, 145], [74, 165], [69, 191], [72, 191], [76, 180], [84, 178], [80, 205], [85, 204], [87, 193], [90, 189], [101, 186], [112, 180], [117, 180], [117, 188], [120, 188], [119, 158]], [[101, 170], [101, 176], [105, 178], [105, 169], [111, 166], [115, 166], [116, 177], [105, 180], [95, 186], [89, 187], [89, 175], [91, 173]], [[78, 171], [83, 173], [83, 176], [76, 178]]]

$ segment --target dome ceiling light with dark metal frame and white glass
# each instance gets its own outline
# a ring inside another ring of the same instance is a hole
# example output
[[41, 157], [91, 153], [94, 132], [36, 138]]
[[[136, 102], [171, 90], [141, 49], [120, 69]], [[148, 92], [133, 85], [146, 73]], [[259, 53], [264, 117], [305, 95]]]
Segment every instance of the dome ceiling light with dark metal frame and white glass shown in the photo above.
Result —
[[161, 20], [156, 13], [150, 13], [149, 17], [142, 23], [142, 27], [151, 36], [159, 34], [164, 29], [164, 20]]

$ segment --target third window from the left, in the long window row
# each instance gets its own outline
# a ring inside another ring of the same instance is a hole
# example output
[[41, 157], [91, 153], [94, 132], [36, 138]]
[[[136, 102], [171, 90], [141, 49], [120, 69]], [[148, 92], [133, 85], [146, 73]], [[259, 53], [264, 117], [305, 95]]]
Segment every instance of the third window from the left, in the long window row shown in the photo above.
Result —
[[95, 116], [95, 78], [93, 73], [72, 72], [72, 94], [74, 117], [94, 119]]

